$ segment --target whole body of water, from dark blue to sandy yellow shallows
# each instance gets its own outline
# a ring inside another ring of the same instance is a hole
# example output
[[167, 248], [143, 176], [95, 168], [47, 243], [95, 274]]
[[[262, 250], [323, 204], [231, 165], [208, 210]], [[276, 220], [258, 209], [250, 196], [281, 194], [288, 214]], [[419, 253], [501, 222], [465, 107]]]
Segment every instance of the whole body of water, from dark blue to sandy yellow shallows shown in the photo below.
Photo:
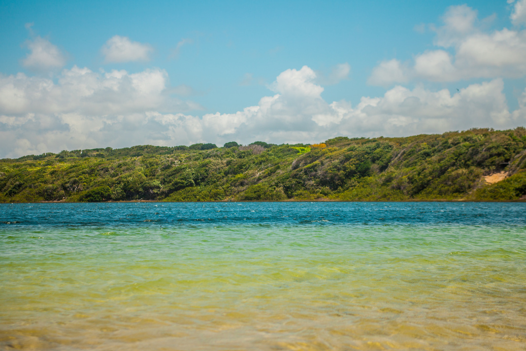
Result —
[[526, 204], [0, 205], [0, 349], [524, 350]]

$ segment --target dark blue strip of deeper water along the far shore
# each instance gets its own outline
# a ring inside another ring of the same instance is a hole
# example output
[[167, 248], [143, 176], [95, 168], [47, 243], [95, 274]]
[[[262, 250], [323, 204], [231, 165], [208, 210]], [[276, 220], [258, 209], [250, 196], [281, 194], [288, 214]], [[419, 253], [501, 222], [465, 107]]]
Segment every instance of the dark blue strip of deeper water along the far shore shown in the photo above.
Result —
[[0, 229], [179, 225], [526, 226], [526, 203], [257, 202], [0, 204]]

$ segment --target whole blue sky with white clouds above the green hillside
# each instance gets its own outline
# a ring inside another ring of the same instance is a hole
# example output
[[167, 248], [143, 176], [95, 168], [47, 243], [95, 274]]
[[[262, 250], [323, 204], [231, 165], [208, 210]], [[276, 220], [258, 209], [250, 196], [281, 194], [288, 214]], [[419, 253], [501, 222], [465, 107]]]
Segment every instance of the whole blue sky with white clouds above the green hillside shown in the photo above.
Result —
[[0, 18], [0, 158], [526, 125], [526, 0], [3, 0]]

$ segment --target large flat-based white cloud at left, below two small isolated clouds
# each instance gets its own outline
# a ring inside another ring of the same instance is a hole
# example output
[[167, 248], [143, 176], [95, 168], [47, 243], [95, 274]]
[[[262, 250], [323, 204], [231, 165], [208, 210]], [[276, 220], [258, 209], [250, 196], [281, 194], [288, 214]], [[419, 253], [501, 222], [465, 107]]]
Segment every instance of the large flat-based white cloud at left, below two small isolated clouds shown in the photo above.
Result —
[[170, 97], [167, 80], [166, 71], [161, 69], [133, 74], [124, 70], [95, 73], [77, 66], [64, 69], [56, 84], [52, 79], [21, 73], [0, 75], [0, 114], [106, 116], [199, 108], [195, 103]]

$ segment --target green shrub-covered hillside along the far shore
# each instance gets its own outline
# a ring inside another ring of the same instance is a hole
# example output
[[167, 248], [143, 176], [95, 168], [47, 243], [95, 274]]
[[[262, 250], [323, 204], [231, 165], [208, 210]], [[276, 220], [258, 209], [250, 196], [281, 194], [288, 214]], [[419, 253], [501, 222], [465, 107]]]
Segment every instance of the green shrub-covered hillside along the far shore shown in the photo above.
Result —
[[[506, 172], [501, 182], [484, 176]], [[0, 202], [524, 200], [526, 129], [313, 145], [236, 142], [0, 160]]]

